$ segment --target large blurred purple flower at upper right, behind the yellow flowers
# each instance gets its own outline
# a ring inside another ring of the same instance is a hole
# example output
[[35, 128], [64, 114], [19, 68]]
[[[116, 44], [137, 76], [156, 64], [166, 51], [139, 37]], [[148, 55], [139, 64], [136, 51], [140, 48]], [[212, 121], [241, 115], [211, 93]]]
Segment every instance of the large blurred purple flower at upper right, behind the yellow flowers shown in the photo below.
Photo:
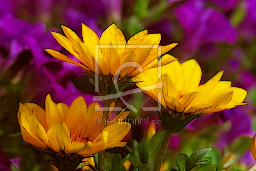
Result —
[[205, 7], [203, 0], [189, 0], [174, 10], [183, 27], [184, 37], [180, 48], [184, 55], [196, 51], [200, 46], [212, 43], [235, 43], [236, 29], [224, 13]]

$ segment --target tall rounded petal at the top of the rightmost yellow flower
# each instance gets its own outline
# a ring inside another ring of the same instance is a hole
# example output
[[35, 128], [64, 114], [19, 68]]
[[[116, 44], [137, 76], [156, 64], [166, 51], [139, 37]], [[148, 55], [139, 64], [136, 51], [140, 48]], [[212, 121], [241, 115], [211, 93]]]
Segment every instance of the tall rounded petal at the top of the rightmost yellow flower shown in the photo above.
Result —
[[191, 93], [196, 90], [199, 86], [202, 70], [200, 65], [197, 63], [195, 59], [190, 59], [181, 64], [181, 68], [184, 73], [184, 80], [186, 80], [183, 84], [183, 93]]

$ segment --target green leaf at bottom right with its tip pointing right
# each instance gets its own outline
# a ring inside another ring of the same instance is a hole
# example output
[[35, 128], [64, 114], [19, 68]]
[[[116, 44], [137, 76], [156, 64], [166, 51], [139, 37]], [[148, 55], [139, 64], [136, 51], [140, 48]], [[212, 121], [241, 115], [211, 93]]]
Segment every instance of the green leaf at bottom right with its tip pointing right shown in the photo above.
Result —
[[186, 170], [189, 171], [195, 166], [195, 163], [201, 159], [206, 153], [212, 150], [211, 147], [196, 150], [188, 159], [186, 164]]

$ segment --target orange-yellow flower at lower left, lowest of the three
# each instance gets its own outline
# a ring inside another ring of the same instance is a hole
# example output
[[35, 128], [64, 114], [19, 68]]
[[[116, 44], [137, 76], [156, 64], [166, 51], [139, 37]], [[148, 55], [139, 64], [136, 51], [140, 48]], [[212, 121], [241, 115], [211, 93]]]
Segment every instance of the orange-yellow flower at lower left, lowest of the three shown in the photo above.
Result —
[[[96, 105], [99, 104], [94, 102], [87, 106], [84, 97], [77, 97], [68, 107], [64, 103], [54, 103], [50, 94], [45, 99], [45, 110], [34, 103], [20, 103], [18, 121], [22, 138], [36, 147], [51, 148], [55, 152], [63, 150], [66, 154], [77, 153], [82, 157], [125, 146], [126, 142], [121, 140], [131, 125], [120, 121], [100, 131], [103, 111], [95, 110]], [[128, 114], [123, 110], [117, 118], [122, 120]]]

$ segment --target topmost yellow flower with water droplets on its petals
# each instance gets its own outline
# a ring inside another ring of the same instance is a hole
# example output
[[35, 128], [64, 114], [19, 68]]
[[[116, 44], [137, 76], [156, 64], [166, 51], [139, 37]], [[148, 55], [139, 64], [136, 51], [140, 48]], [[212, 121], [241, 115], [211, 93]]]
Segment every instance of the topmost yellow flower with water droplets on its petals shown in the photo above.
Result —
[[[148, 34], [147, 30], [137, 33], [126, 42], [124, 34], [115, 24], [110, 25], [100, 38], [91, 28], [82, 24], [82, 41], [70, 28], [61, 27], [66, 37], [55, 32], [51, 32], [52, 35], [62, 47], [74, 55], [81, 63], [71, 60], [58, 51], [52, 49], [45, 49], [45, 51], [55, 58], [106, 76], [109, 74], [114, 76], [118, 68], [126, 62], [136, 62], [141, 65], [144, 71], [148, 68], [156, 67], [158, 57], [178, 44], [172, 43], [161, 46], [158, 50], [157, 47], [160, 43], [161, 35]], [[98, 61], [97, 58], [99, 59]], [[176, 59], [171, 55], [167, 55], [162, 58], [162, 65]], [[98, 71], [97, 67], [95, 68], [95, 62], [99, 66]], [[121, 70], [119, 78], [132, 77], [139, 73], [136, 67], [130, 65], [130, 67]]]

